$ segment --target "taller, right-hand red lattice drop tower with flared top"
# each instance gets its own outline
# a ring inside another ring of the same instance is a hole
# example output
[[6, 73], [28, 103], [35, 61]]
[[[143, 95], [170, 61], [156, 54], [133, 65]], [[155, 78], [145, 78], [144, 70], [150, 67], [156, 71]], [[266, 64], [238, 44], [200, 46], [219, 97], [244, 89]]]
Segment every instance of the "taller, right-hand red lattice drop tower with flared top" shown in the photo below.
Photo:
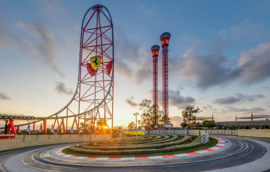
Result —
[[164, 123], [169, 123], [169, 90], [168, 90], [168, 46], [171, 34], [169, 32], [164, 32], [160, 36], [161, 46], [162, 46], [162, 82], [163, 82], [163, 115]]

